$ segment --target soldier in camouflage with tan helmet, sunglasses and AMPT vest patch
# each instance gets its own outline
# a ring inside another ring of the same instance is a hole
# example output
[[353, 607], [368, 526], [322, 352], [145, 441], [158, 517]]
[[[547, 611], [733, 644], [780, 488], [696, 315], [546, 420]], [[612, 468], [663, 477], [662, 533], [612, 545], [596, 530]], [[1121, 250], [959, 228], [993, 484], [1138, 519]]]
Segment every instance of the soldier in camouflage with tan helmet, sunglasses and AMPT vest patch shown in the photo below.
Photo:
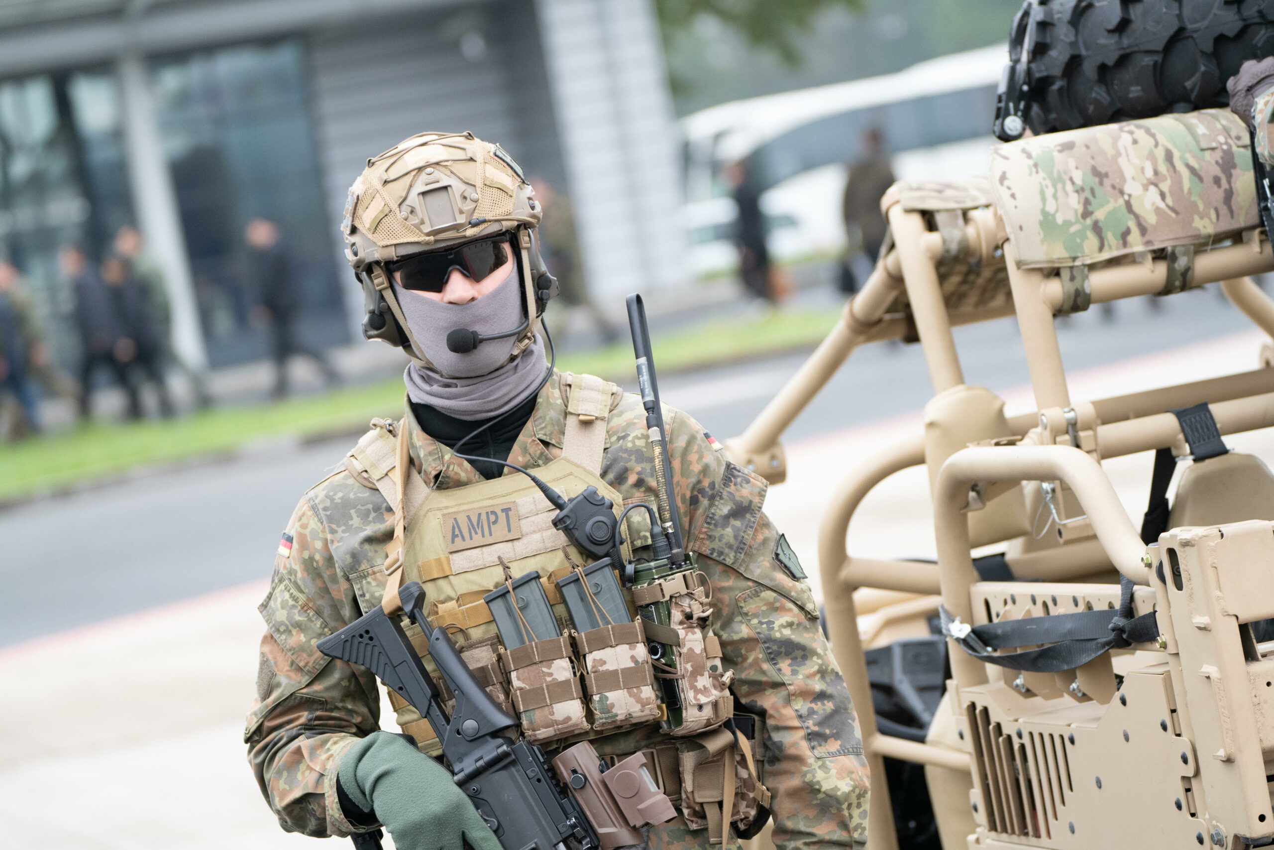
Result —
[[[699, 646], [713, 661], [684, 703], [706, 709], [698, 729], [720, 729], [731, 714], [755, 719], [761, 782], [743, 756], [750, 747], [736, 738], [738, 781], [725, 784], [733, 798], [720, 779], [705, 785], [693, 774], [702, 735], [661, 733], [657, 703], [628, 706], [641, 723], [608, 717], [608, 709], [623, 710], [614, 701], [590, 702], [586, 716], [568, 661], [553, 668], [564, 674], [543, 677], [535, 691], [543, 698], [529, 701], [520, 689], [527, 668], [493, 644], [483, 594], [529, 570], [548, 587], [582, 558], [549, 525], [555, 508], [505, 463], [569, 493], [595, 486], [617, 506], [656, 503], [640, 399], [545, 363], [538, 331], [553, 280], [539, 256], [539, 219], [519, 167], [471, 134], [406, 139], [368, 161], [350, 189], [343, 232], [367, 297], [364, 335], [412, 357], [406, 410], [399, 422], [373, 423], [344, 468], [304, 494], [283, 535], [260, 607], [266, 632], [245, 733], [262, 794], [289, 831], [344, 836], [383, 825], [401, 850], [460, 850], [461, 836], [498, 850], [465, 794], [422, 754], [438, 744], [419, 715], [391, 695], [419, 751], [378, 731], [375, 677], [316, 649], [400, 582], [419, 581], [433, 622], [455, 628], [475, 675], [516, 706], [524, 734], [550, 758], [592, 739], [603, 757], [641, 752], [665, 767], [655, 772], [682, 817], [651, 827], [648, 846], [734, 844], [727, 826], [747, 835], [766, 802], [780, 849], [861, 845], [868, 771], [857, 721], [804, 573], [762, 514], [766, 483], [729, 463], [684, 413], [665, 414], [670, 487], [703, 576], [688, 581], [698, 584], [699, 616], [711, 618]], [[516, 537], [476, 547], [464, 534], [460, 543], [446, 539], [440, 521], [466, 506], [512, 508]], [[650, 544], [648, 524], [632, 521], [641, 516], [631, 514], [626, 530], [637, 557]], [[645, 649], [624, 651], [636, 658]], [[589, 670], [585, 681], [596, 682], [599, 668]], [[679, 763], [692, 774], [683, 776]]]

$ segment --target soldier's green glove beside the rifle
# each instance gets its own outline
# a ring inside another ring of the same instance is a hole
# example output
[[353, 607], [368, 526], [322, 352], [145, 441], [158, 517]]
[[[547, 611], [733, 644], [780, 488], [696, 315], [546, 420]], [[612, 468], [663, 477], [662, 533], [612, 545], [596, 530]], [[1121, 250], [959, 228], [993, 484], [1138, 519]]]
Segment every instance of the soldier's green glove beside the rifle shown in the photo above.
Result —
[[394, 836], [399, 850], [501, 850], [451, 774], [389, 731], [375, 731], [340, 760], [336, 777], [349, 798]]

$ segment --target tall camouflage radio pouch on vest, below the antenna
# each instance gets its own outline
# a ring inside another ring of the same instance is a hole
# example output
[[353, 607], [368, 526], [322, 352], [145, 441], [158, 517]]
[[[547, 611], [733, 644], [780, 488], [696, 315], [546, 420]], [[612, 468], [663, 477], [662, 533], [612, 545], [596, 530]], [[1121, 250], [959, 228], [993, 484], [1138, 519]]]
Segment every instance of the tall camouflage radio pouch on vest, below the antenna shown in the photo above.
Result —
[[721, 641], [708, 628], [712, 608], [707, 598], [707, 580], [696, 570], [633, 587], [638, 607], [669, 604], [669, 624], [646, 622], [645, 628], [650, 641], [678, 650], [675, 666], [656, 665], [656, 675], [674, 679], [680, 696], [680, 723], [664, 729], [670, 735], [697, 735], [720, 726], [734, 709], [734, 672], [721, 663]]

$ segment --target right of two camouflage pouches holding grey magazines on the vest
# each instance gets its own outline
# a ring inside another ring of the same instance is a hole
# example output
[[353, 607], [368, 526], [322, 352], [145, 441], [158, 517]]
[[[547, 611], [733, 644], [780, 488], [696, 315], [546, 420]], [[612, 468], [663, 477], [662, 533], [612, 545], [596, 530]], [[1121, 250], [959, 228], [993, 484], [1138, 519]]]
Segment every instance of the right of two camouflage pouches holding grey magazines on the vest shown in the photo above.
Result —
[[655, 668], [642, 622], [601, 626], [576, 635], [592, 728], [612, 729], [660, 717]]

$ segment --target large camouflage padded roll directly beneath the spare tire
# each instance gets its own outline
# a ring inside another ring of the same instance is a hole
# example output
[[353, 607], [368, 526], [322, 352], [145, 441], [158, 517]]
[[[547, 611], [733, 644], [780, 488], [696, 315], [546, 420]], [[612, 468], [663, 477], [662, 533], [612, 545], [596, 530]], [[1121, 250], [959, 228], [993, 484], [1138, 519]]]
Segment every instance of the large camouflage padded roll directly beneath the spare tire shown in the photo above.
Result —
[[991, 186], [1023, 268], [1209, 245], [1256, 227], [1247, 127], [1201, 110], [991, 149]]

